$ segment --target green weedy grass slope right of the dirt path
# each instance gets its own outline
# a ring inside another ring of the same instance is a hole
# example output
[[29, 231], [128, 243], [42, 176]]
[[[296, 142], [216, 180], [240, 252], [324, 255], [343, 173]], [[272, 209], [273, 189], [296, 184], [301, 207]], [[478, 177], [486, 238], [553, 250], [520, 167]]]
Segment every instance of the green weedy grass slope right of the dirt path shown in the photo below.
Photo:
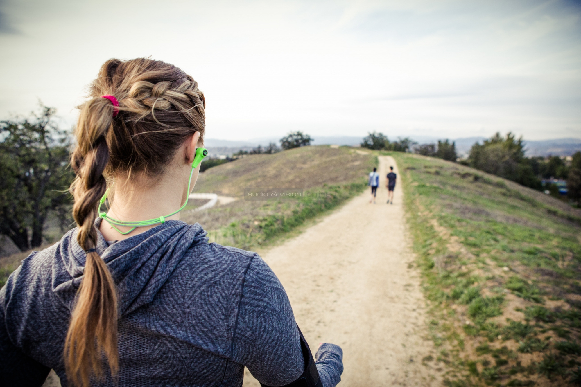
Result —
[[[581, 384], [581, 212], [501, 178], [393, 152], [450, 386]], [[547, 195], [548, 196], [548, 195]]]

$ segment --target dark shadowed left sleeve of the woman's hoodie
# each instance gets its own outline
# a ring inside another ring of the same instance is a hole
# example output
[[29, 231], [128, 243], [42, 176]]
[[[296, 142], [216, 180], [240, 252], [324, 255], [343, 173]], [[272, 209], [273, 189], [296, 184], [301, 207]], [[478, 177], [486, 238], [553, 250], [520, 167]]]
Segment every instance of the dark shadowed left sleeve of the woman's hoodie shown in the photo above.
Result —
[[[6, 386], [42, 386], [51, 368], [26, 356], [16, 347], [8, 335], [6, 326], [6, 292], [19, 270], [10, 275], [6, 285], [0, 289], [0, 375]], [[12, 280], [11, 280], [12, 279]], [[10, 294], [10, 293], [9, 293]], [[11, 302], [16, 302], [12, 300]]]

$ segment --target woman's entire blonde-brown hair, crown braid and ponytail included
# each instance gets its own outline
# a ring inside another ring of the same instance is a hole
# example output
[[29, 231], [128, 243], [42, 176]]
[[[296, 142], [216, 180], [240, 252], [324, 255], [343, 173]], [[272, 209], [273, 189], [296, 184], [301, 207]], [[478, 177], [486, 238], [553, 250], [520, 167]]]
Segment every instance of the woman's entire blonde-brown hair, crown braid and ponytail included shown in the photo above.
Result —
[[[115, 96], [119, 107], [103, 95]], [[145, 58], [105, 62], [89, 96], [80, 106], [77, 145], [71, 152], [76, 178], [70, 187], [77, 241], [88, 252], [64, 345], [67, 378], [83, 387], [91, 378], [103, 377], [103, 354], [111, 374], [119, 370], [116, 287], [94, 250], [97, 205], [107, 181], [119, 173], [162, 174], [186, 138], [200, 132], [203, 142], [206, 106], [191, 76], [171, 64]]]

